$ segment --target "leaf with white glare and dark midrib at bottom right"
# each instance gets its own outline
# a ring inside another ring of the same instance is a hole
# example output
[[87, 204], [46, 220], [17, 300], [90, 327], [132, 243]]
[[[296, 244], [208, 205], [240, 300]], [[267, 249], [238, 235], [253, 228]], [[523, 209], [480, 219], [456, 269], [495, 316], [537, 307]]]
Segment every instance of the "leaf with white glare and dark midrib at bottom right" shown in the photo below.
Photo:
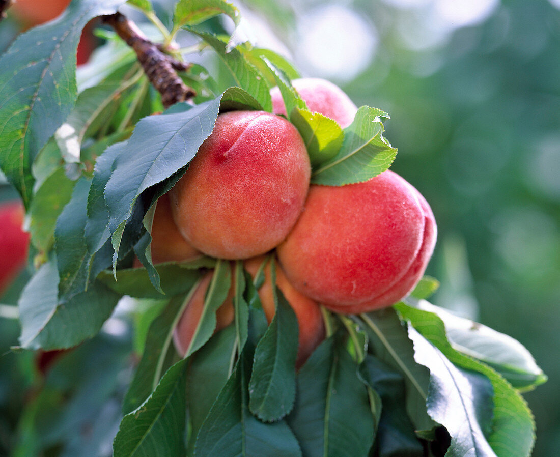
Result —
[[451, 435], [447, 454], [496, 456], [483, 433], [492, 421], [492, 385], [488, 379], [454, 366], [413, 327], [408, 334], [414, 342], [414, 358], [430, 369], [428, 414]]

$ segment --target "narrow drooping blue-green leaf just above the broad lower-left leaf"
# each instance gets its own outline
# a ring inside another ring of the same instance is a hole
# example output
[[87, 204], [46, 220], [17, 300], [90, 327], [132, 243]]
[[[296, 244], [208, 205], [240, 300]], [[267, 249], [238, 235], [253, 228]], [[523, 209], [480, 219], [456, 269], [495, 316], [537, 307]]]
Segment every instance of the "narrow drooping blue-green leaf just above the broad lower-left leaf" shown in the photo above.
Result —
[[86, 202], [91, 180], [80, 178], [74, 187], [72, 199], [57, 219], [54, 231], [55, 251], [60, 275], [59, 298], [66, 299], [86, 291], [97, 274], [111, 264], [109, 244], [90, 255], [86, 246]]

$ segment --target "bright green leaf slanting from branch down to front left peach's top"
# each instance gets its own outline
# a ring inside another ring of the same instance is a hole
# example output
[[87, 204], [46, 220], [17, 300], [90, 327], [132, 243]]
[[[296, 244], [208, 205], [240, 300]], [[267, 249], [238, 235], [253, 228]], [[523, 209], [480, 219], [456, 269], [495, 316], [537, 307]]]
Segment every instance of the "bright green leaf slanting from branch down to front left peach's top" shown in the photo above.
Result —
[[234, 48], [230, 52], [226, 52], [226, 43], [214, 35], [189, 31], [197, 34], [206, 43], [208, 43], [218, 54], [218, 57], [225, 63], [234, 77], [237, 86], [248, 92], [263, 107], [264, 111], [272, 111], [272, 99], [270, 99], [270, 87], [264, 78], [260, 75], [255, 67], [253, 67], [243, 54]]

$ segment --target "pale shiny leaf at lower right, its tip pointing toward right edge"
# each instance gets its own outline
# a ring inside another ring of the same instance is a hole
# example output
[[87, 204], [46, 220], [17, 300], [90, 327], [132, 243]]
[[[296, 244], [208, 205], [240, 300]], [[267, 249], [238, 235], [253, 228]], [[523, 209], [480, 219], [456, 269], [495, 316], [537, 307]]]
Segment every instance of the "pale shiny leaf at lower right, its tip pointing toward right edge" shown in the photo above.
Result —
[[[413, 304], [412, 300], [407, 301]], [[455, 316], [425, 300], [418, 301], [416, 306], [439, 316], [445, 325], [447, 339], [456, 351], [491, 366], [516, 389], [533, 389], [547, 381], [531, 353], [516, 339]]]

